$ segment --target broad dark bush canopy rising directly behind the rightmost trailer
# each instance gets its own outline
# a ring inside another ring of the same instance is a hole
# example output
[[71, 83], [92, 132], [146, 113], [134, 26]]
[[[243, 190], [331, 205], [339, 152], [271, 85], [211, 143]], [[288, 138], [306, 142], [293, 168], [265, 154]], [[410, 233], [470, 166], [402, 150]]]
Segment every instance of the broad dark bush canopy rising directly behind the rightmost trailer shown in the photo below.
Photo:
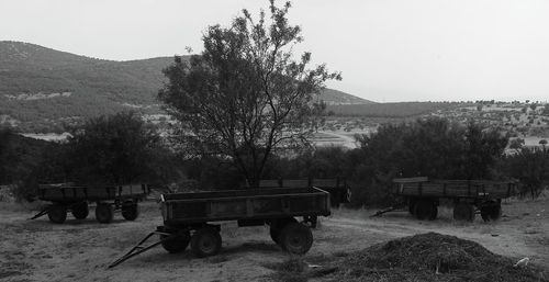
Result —
[[491, 169], [508, 138], [474, 123], [462, 126], [426, 119], [383, 125], [371, 137], [360, 136], [359, 142], [372, 173], [381, 179], [491, 179]]

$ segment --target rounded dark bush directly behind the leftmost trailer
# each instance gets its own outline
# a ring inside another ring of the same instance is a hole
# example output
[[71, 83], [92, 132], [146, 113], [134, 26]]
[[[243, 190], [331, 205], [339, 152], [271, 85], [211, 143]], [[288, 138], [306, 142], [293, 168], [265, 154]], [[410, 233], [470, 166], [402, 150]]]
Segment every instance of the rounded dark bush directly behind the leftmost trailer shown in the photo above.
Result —
[[91, 119], [68, 139], [70, 178], [87, 183], [148, 179], [160, 148], [155, 128], [133, 112]]

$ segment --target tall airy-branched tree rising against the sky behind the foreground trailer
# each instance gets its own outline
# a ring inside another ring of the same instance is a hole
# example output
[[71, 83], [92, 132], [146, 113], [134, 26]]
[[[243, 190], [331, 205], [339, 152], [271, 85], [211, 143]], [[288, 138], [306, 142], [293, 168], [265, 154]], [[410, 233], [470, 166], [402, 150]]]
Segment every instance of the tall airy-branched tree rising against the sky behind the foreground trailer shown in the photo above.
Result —
[[326, 80], [340, 79], [325, 65], [309, 68], [311, 53], [294, 58], [302, 37], [288, 22], [289, 9], [271, 0], [257, 21], [243, 10], [229, 26], [210, 26], [200, 55], [176, 57], [164, 70], [168, 82], [158, 94], [180, 122], [187, 150], [231, 159], [251, 187], [273, 150], [306, 140], [315, 94]]

